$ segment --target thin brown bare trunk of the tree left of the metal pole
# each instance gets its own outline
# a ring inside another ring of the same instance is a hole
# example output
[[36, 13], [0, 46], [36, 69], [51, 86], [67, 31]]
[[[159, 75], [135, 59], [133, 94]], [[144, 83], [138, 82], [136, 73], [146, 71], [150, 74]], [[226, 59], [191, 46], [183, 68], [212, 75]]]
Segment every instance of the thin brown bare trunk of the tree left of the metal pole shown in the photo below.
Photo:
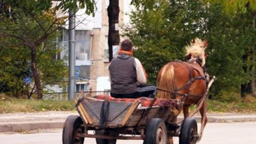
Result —
[[32, 74], [35, 79], [35, 87], [36, 87], [36, 92], [38, 95], [38, 99], [43, 98], [43, 93], [42, 93], [42, 86], [40, 83], [40, 77], [38, 75], [37, 71], [37, 66], [36, 66], [36, 52], [35, 52], [35, 46], [31, 48], [31, 69], [32, 69]]

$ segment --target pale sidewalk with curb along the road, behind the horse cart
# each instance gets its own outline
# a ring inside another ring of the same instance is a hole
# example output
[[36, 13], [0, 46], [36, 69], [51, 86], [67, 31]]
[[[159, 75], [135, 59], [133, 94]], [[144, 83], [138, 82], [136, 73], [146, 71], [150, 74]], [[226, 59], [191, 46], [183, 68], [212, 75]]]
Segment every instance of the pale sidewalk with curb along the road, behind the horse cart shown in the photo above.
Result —
[[[63, 123], [69, 115], [78, 115], [73, 112], [35, 112], [35, 113], [8, 113], [0, 114], [0, 132], [24, 131], [35, 129], [62, 128]], [[208, 122], [247, 122], [256, 121], [256, 113], [253, 114], [233, 114], [233, 113], [207, 113]], [[201, 116], [194, 118], [200, 122]], [[183, 115], [178, 117], [178, 121], [183, 119]]]

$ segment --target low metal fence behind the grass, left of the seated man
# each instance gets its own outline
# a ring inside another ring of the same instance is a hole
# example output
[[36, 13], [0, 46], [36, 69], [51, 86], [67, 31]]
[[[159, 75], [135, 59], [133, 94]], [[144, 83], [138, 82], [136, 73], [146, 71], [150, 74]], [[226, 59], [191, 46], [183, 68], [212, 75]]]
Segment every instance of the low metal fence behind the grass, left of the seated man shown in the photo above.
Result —
[[[82, 91], [82, 92], [75, 92], [75, 97], [81, 97], [81, 96], [88, 96], [93, 97], [95, 95], [110, 95], [110, 91]], [[52, 92], [52, 93], [46, 93], [44, 94], [43, 99], [45, 100], [56, 100], [56, 101], [62, 101], [68, 99], [68, 92]]]

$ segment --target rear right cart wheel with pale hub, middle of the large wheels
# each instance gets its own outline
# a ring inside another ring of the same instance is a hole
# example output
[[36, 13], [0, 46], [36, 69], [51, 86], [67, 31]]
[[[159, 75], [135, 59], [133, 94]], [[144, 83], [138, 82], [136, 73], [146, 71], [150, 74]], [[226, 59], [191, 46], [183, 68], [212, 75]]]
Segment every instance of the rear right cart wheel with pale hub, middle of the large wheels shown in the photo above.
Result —
[[167, 144], [166, 125], [161, 118], [148, 121], [143, 144]]

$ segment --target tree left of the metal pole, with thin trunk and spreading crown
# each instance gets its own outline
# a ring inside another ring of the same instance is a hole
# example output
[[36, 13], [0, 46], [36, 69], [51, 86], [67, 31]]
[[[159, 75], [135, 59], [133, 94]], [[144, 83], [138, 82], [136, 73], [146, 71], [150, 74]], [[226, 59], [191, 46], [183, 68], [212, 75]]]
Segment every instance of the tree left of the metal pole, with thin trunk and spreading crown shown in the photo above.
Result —
[[[94, 15], [94, 0], [61, 0], [53, 8], [51, 8], [51, 0], [4, 0], [1, 1], [1, 6], [3, 9], [1, 9], [0, 35], [3, 38], [15, 39], [21, 46], [30, 49], [32, 77], [38, 99], [41, 99], [43, 93], [37, 55], [40, 49], [46, 49], [48, 38], [54, 35], [68, 18], [57, 17], [56, 12], [67, 12], [67, 9], [76, 12], [86, 7], [85, 13]], [[11, 12], [6, 10], [10, 6]]]

